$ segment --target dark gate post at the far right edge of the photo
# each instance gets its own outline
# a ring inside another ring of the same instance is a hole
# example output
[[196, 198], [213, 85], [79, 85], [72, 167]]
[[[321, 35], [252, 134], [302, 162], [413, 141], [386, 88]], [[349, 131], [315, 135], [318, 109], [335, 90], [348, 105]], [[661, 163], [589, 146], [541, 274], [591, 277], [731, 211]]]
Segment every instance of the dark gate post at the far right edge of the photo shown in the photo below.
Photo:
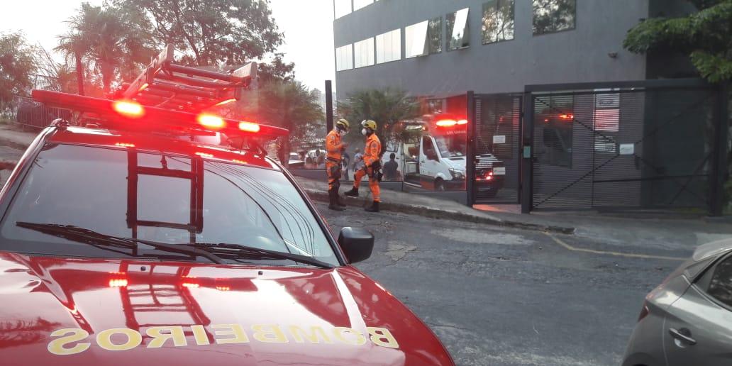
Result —
[[717, 101], [714, 105], [714, 141], [712, 141], [712, 176], [709, 182], [709, 214], [722, 216], [727, 178], [727, 140], [729, 133], [728, 110], [729, 84], [720, 83], [717, 87]]

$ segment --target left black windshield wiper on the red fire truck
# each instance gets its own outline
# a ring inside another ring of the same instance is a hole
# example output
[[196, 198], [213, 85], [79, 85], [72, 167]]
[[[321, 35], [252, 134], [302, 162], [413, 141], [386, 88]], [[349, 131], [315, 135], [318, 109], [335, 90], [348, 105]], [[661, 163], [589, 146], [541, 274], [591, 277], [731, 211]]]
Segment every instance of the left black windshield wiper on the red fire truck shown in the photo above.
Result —
[[59, 224], [42, 224], [42, 223], [26, 223], [18, 221], [15, 223], [20, 228], [27, 228], [34, 231], [39, 231], [43, 234], [58, 236], [71, 240], [72, 242], [80, 242], [91, 244], [94, 246], [104, 245], [106, 247], [119, 247], [124, 249], [131, 249], [136, 253], [139, 249], [139, 244], [149, 245], [157, 250], [169, 253], [179, 253], [187, 255], [196, 255], [208, 259], [215, 264], [225, 264], [225, 261], [218, 255], [210, 253], [206, 250], [200, 250], [196, 247], [187, 247], [179, 244], [165, 244], [160, 242], [151, 242], [143, 239], [132, 239], [124, 238], [122, 236], [111, 236], [107, 234], [97, 233], [86, 228], [79, 228], [74, 225], [59, 225]]

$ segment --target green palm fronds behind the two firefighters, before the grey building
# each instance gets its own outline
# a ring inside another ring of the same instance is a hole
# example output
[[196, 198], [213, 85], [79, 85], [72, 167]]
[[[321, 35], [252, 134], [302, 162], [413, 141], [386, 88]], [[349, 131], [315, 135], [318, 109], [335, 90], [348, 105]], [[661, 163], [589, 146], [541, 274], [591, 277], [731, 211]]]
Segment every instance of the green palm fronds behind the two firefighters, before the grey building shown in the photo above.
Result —
[[[365, 119], [376, 121], [376, 135], [383, 141], [396, 137], [397, 122], [419, 116], [419, 102], [398, 89], [356, 91], [337, 106], [338, 114], [351, 121], [352, 127]], [[354, 130], [360, 130], [360, 127], [356, 126]]]

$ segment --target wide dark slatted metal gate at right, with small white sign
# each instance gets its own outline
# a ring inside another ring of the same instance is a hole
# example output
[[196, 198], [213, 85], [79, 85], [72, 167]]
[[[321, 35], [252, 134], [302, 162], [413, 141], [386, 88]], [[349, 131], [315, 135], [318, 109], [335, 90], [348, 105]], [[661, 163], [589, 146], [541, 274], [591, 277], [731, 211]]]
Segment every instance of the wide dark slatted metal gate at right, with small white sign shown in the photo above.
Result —
[[719, 210], [727, 152], [722, 89], [639, 81], [527, 86], [525, 95], [531, 184], [523, 212]]

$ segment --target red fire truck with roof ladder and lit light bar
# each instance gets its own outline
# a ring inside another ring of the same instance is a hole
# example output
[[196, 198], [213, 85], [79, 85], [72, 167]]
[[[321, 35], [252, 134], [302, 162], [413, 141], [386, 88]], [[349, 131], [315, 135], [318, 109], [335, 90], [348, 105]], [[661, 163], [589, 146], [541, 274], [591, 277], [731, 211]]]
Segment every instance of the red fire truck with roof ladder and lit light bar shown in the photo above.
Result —
[[266, 156], [262, 141], [288, 132], [206, 112], [241, 97], [255, 65], [172, 56], [116, 100], [33, 91], [75, 114], [42, 130], [0, 191], [1, 363], [453, 365], [352, 265], [373, 236], [333, 236]]

